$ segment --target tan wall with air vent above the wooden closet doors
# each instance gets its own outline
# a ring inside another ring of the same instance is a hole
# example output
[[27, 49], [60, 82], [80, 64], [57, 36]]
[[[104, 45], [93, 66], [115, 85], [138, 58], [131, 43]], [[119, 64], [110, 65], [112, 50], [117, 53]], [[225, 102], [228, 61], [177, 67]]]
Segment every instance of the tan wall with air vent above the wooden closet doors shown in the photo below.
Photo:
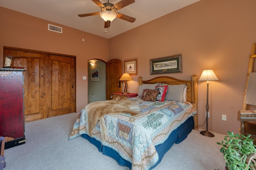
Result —
[[[48, 31], [48, 23], [62, 27], [63, 33]], [[108, 39], [0, 7], [1, 67], [3, 46], [75, 55], [77, 112], [88, 102], [87, 61], [97, 58], [108, 61]]]

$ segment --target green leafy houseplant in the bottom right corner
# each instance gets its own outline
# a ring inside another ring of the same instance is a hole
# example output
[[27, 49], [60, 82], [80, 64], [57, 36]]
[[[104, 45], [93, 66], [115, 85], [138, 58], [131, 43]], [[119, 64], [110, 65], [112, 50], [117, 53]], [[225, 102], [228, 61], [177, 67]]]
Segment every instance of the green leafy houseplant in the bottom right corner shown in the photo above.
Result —
[[222, 145], [220, 152], [224, 155], [228, 170], [256, 170], [256, 145], [253, 145], [250, 136], [234, 135], [228, 131], [224, 141], [217, 142], [218, 145]]

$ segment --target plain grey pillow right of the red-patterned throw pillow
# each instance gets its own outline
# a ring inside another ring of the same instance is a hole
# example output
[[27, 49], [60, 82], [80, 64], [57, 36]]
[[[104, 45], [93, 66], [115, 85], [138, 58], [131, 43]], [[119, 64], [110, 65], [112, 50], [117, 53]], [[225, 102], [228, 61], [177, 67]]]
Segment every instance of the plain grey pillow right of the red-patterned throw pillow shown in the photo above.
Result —
[[168, 85], [168, 90], [166, 92], [165, 100], [172, 100], [176, 102], [184, 102], [184, 89], [186, 85], [185, 84], [179, 84], [179, 85]]

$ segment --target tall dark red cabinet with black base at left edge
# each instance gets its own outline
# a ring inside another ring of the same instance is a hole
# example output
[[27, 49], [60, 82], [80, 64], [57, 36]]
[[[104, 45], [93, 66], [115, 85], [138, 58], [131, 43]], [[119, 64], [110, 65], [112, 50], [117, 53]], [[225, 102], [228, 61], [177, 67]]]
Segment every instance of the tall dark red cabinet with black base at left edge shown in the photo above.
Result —
[[5, 149], [25, 143], [23, 71], [0, 68], [0, 136], [6, 138]]

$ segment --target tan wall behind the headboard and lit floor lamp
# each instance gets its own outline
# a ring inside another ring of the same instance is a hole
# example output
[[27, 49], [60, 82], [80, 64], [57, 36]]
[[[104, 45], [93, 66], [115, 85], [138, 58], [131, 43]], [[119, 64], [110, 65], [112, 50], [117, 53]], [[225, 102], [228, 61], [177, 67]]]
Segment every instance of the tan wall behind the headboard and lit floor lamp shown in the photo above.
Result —
[[[255, 7], [255, 0], [201, 0], [111, 38], [110, 57], [138, 59], [138, 76], [128, 82], [129, 92], [136, 92], [139, 76], [189, 79], [195, 74], [199, 79], [204, 69], [213, 69], [219, 81], [209, 84], [208, 130], [238, 133], [248, 55], [256, 43]], [[182, 73], [150, 75], [149, 59], [176, 54], [182, 54]], [[198, 125], [204, 123], [205, 105], [206, 82], [198, 82]]]

